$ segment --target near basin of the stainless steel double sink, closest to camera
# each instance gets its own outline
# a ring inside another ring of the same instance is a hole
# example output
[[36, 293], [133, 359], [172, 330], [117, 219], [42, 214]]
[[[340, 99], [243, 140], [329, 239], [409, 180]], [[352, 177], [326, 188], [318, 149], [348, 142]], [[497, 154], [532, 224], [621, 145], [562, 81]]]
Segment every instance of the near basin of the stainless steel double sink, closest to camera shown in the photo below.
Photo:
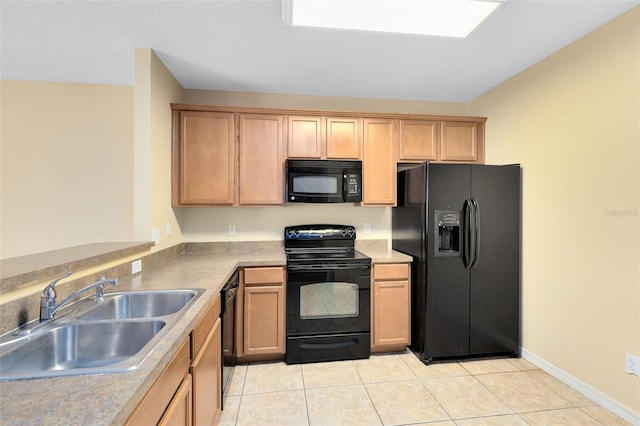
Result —
[[[165, 321], [72, 323], [35, 335], [0, 357], [0, 379], [126, 371]], [[111, 368], [109, 368], [111, 367]]]

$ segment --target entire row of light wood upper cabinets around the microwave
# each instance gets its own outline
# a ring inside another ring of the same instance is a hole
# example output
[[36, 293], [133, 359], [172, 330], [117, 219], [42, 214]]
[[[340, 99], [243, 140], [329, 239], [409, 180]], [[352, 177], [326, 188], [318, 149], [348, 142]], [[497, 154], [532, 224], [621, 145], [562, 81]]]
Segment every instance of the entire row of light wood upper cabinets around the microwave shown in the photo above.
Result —
[[484, 163], [482, 117], [172, 108], [177, 207], [283, 205], [286, 158], [362, 160], [363, 206], [395, 205], [397, 162]]

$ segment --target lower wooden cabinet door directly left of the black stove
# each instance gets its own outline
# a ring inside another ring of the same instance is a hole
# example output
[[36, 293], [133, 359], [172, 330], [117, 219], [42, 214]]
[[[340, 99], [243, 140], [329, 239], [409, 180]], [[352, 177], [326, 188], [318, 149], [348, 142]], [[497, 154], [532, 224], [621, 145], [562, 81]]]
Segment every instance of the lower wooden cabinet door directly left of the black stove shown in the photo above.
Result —
[[284, 286], [244, 287], [244, 355], [285, 352]]

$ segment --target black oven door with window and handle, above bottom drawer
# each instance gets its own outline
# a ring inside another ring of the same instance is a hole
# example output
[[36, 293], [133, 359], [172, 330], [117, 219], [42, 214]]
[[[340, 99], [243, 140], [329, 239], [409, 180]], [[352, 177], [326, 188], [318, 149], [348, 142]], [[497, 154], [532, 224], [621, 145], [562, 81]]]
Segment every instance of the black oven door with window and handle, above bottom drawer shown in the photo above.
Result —
[[289, 265], [287, 336], [368, 333], [370, 280], [370, 265]]

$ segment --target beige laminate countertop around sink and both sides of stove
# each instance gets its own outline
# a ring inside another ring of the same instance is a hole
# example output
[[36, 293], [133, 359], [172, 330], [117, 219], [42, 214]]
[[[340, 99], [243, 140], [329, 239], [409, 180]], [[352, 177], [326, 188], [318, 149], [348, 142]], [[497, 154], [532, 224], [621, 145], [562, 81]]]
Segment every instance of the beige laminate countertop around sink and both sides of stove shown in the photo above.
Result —
[[[359, 250], [374, 263], [411, 261], [392, 250]], [[123, 424], [237, 267], [285, 264], [282, 249], [241, 254], [190, 252], [120, 280], [107, 293], [174, 288], [206, 291], [133, 371], [0, 382], [0, 424]]]

